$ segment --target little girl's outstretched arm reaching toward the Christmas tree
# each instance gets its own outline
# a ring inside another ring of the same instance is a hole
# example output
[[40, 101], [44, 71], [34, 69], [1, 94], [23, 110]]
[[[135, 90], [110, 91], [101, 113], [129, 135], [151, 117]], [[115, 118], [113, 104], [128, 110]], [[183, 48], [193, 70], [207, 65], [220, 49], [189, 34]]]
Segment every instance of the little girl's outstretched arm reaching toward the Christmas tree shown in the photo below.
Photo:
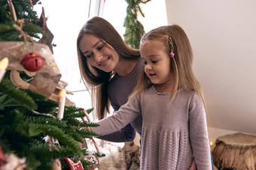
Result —
[[114, 133], [127, 124], [130, 124], [141, 113], [138, 97], [130, 97], [128, 102], [120, 107], [114, 115], [104, 118], [97, 122], [99, 127], [91, 127], [95, 133], [99, 133], [102, 136]]

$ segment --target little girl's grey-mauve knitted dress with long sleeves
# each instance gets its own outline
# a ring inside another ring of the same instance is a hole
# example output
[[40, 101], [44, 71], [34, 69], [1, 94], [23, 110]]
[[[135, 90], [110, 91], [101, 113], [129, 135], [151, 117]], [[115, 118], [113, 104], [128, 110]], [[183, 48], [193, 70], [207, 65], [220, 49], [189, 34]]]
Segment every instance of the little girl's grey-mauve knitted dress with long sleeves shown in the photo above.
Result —
[[169, 94], [160, 94], [152, 86], [130, 97], [92, 130], [113, 133], [142, 115], [140, 169], [189, 169], [193, 156], [197, 169], [212, 169], [206, 112], [199, 95], [181, 88], [168, 103]]

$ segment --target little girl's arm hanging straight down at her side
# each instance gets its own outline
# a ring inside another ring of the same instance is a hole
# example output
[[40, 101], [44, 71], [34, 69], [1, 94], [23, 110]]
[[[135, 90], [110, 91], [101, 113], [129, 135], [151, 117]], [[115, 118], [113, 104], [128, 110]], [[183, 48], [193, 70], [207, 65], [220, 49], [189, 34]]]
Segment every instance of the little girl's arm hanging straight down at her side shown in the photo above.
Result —
[[190, 103], [190, 141], [197, 169], [212, 170], [206, 112], [198, 94]]

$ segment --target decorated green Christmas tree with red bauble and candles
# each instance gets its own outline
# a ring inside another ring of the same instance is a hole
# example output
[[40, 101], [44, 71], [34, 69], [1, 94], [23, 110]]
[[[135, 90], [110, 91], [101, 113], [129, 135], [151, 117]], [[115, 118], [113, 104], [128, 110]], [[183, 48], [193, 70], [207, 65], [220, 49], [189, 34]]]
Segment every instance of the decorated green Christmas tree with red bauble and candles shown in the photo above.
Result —
[[84, 145], [86, 138], [99, 136], [90, 131], [99, 125], [84, 119], [93, 109], [75, 107], [69, 100], [60, 105], [56, 94], [65, 87], [59, 85], [44, 13], [38, 18], [33, 10], [37, 3], [0, 0], [0, 61], [2, 55], [10, 61], [0, 79], [0, 169], [69, 169], [71, 164], [94, 169], [97, 157], [104, 155]]

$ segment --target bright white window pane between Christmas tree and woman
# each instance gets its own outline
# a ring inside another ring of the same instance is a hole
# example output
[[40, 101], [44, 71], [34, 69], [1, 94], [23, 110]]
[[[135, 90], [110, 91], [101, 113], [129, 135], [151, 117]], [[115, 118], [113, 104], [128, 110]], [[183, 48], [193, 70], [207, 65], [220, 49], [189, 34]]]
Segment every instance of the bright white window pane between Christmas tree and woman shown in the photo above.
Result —
[[[89, 2], [85, 0], [50, 1], [41, 0], [42, 4], [36, 4], [35, 10], [41, 15], [41, 7], [44, 7], [47, 26], [53, 33], [53, 57], [62, 73], [61, 80], [68, 82], [66, 90], [73, 91], [74, 95], [67, 98], [76, 106], [90, 109], [90, 94], [86, 91], [78, 67], [78, 55], [76, 39], [82, 25], [87, 21]], [[79, 91], [79, 92], [77, 92]]]

